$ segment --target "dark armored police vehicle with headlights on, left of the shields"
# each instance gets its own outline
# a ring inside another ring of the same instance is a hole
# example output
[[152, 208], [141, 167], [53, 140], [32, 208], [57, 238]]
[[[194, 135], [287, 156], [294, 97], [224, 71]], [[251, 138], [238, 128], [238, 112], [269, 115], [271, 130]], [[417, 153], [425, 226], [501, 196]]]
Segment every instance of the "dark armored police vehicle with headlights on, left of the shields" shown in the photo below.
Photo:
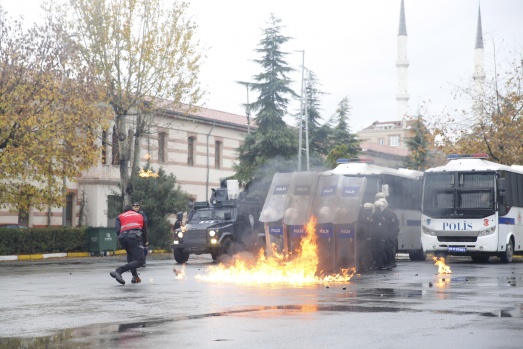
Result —
[[212, 189], [209, 202], [194, 202], [185, 225], [174, 232], [174, 259], [183, 264], [191, 254], [220, 256], [247, 250], [258, 253], [265, 247], [263, 223], [259, 216], [263, 203], [250, 201], [239, 191], [237, 180], [222, 180]]

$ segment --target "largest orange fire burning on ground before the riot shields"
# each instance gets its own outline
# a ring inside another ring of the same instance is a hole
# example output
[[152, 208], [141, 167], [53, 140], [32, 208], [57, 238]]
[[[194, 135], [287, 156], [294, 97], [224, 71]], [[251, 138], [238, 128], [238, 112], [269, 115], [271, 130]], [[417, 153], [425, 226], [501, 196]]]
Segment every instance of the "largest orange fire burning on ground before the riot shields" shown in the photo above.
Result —
[[220, 263], [207, 268], [205, 275], [196, 278], [211, 282], [231, 282], [242, 284], [292, 285], [317, 284], [325, 282], [348, 282], [354, 275], [354, 269], [342, 269], [340, 273], [323, 276], [317, 275], [318, 246], [316, 244], [316, 218], [312, 217], [305, 226], [306, 236], [302, 238], [300, 249], [292, 256], [277, 251], [271, 246], [272, 255], [266, 257], [263, 249], [257, 258], [247, 259], [236, 255], [230, 265]]

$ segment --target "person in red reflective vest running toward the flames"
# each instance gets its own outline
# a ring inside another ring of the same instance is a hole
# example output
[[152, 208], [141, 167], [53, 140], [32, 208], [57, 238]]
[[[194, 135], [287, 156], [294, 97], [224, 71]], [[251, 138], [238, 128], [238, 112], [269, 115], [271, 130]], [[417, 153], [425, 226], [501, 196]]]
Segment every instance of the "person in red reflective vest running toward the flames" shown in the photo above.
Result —
[[149, 245], [147, 222], [140, 213], [133, 211], [131, 206], [126, 206], [124, 212], [116, 218], [114, 229], [120, 245], [127, 252], [127, 264], [114, 269], [109, 274], [124, 285], [125, 280], [122, 274], [130, 271], [133, 276], [131, 283], [140, 283], [141, 280], [136, 269], [143, 265], [145, 261], [144, 246]]

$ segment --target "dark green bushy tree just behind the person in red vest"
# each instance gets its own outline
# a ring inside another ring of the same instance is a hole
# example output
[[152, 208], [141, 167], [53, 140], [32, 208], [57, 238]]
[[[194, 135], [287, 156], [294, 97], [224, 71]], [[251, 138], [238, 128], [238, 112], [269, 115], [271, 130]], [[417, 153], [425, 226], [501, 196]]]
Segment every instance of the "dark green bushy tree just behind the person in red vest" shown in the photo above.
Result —
[[[154, 171], [146, 166], [144, 171]], [[167, 175], [163, 168], [158, 170], [157, 177], [140, 177], [132, 179], [134, 188], [131, 201], [139, 201], [141, 209], [147, 216], [149, 244], [151, 247], [169, 249], [171, 246], [171, 223], [167, 220], [170, 214], [185, 211], [188, 208], [190, 195], [176, 183], [173, 174]], [[116, 217], [122, 212], [122, 197], [108, 202], [108, 216]]]

